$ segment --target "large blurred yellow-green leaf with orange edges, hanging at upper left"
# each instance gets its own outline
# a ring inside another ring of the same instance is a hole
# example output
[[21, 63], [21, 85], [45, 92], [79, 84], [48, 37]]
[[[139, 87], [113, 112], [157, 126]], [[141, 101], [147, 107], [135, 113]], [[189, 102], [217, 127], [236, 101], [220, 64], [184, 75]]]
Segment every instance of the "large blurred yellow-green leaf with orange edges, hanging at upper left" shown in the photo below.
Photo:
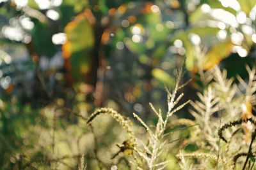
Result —
[[67, 43], [63, 45], [63, 57], [70, 62], [69, 71], [75, 81], [83, 80], [92, 69], [92, 48], [95, 43], [90, 10], [85, 10], [65, 27]]

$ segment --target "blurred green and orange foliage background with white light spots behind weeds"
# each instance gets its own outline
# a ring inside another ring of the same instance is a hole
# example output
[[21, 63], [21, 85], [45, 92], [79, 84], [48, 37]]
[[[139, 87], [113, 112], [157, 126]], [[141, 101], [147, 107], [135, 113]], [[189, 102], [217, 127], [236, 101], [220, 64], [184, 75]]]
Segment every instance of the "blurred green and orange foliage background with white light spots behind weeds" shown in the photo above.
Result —
[[[0, 0], [0, 166], [42, 166], [35, 160], [52, 166], [56, 157], [79, 150], [93, 157], [92, 132], [72, 113], [88, 117], [104, 106], [154, 124], [148, 103], [166, 109], [164, 85], [172, 89], [185, 57], [182, 81], [193, 78], [183, 89], [186, 99], [195, 99], [204, 86], [200, 73], [214, 66], [246, 78], [244, 65], [255, 65], [255, 4]], [[191, 117], [186, 108], [178, 116]], [[98, 125], [104, 130], [96, 135], [106, 140], [112, 127]], [[76, 167], [72, 161], [58, 166]]]

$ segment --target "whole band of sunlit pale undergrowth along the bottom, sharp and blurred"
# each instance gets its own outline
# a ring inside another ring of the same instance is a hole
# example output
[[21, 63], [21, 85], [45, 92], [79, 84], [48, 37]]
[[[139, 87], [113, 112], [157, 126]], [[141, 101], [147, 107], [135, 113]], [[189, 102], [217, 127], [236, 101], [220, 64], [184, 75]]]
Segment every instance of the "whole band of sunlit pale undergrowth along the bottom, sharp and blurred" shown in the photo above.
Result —
[[[4, 169], [256, 169], [255, 67], [246, 66], [247, 80], [227, 78], [225, 69], [214, 67], [186, 83], [182, 69], [175, 87], [166, 88], [167, 111], [149, 104], [156, 122], [136, 113], [128, 118], [113, 108], [88, 116], [52, 104], [39, 112], [46, 125], [24, 122], [24, 145], [19, 152], [10, 148], [10, 158], [4, 155]], [[195, 80], [202, 82], [198, 100], [186, 101], [181, 89]], [[184, 106], [194, 120], [177, 117]], [[67, 115], [76, 124], [65, 122]], [[32, 137], [37, 145], [28, 140]]]

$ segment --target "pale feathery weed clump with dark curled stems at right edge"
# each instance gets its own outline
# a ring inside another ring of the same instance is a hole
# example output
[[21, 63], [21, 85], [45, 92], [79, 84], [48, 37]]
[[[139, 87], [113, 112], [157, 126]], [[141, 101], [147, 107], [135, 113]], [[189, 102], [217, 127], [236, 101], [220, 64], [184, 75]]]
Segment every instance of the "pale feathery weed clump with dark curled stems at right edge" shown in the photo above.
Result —
[[249, 66], [246, 70], [247, 82], [237, 76], [238, 83], [234, 83], [234, 78], [227, 78], [227, 71], [221, 72], [219, 67], [205, 73], [210, 72], [212, 79], [205, 84], [204, 92], [198, 93], [200, 101], [191, 102], [193, 110], [190, 110], [200, 129], [193, 140], [198, 150], [178, 154], [183, 162], [184, 157], [193, 157], [196, 162], [190, 164], [194, 168], [253, 168], [255, 120], [252, 107], [255, 105], [256, 71]]

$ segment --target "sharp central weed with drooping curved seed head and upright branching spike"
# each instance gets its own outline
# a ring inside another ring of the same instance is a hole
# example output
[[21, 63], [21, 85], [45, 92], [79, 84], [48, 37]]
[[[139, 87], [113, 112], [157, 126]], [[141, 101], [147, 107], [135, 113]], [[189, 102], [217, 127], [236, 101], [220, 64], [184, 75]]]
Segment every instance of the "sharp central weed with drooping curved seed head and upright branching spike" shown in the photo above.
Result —
[[[100, 113], [106, 113], [110, 115], [111, 117], [115, 118], [115, 120], [124, 127], [124, 129], [127, 131], [128, 134], [128, 140], [123, 143], [122, 146], [120, 146], [120, 150], [122, 152], [126, 152], [130, 150], [130, 155], [134, 158], [136, 166], [138, 169], [164, 169], [168, 165], [168, 162], [170, 160], [161, 160], [161, 154], [164, 152], [164, 148], [166, 148], [166, 145], [170, 143], [168, 141], [168, 133], [166, 133], [167, 129], [170, 129], [168, 125], [172, 126], [172, 122], [170, 121], [170, 118], [174, 113], [182, 109], [186, 104], [190, 102], [190, 100], [186, 101], [183, 104], [178, 103], [180, 99], [182, 99], [182, 96], [184, 96], [183, 93], [177, 94], [179, 89], [184, 87], [187, 83], [184, 83], [183, 85], [180, 85], [180, 78], [182, 77], [182, 69], [179, 69], [177, 71], [177, 78], [176, 78], [176, 84], [173, 89], [173, 92], [170, 92], [166, 88], [167, 94], [168, 94], [168, 111], [165, 115], [161, 112], [161, 110], [157, 111], [156, 108], [150, 103], [150, 107], [156, 113], [157, 115], [157, 124], [154, 129], [150, 128], [143, 120], [136, 114], [133, 113], [133, 116], [140, 122], [143, 127], [145, 127], [147, 133], [148, 133], [148, 142], [145, 144], [144, 141], [141, 141], [140, 139], [136, 138], [134, 136], [134, 132], [132, 131], [132, 126], [130, 123], [130, 120], [122, 115], [120, 113], [117, 113], [116, 111], [112, 110], [111, 108], [100, 108], [99, 110], [96, 110], [87, 120], [87, 124], [90, 124], [92, 120], [97, 117], [97, 115], [100, 115]], [[177, 124], [177, 123], [176, 123]], [[178, 123], [177, 125], [179, 125]], [[140, 147], [139, 147], [140, 146]]]

